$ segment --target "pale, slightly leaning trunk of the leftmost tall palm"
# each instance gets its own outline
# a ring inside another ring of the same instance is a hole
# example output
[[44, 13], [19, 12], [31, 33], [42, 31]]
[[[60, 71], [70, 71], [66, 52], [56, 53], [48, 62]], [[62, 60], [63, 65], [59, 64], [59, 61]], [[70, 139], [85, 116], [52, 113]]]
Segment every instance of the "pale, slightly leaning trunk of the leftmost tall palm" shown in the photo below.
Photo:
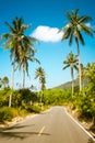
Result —
[[14, 82], [14, 65], [12, 66], [12, 73], [11, 73], [11, 94], [9, 97], [9, 107], [11, 107], [12, 105], [13, 82]]

